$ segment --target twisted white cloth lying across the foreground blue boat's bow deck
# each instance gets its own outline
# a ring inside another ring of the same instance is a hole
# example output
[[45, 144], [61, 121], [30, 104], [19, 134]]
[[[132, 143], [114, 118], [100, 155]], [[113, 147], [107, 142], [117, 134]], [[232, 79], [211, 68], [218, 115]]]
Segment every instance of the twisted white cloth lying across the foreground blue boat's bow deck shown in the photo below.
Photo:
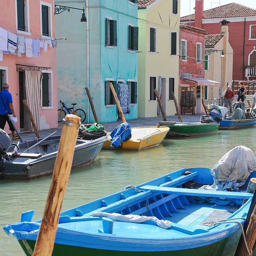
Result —
[[148, 216], [140, 216], [140, 215], [134, 215], [134, 214], [122, 215], [119, 213], [108, 213], [108, 212], [94, 212], [92, 213], [92, 216], [107, 217], [116, 221], [132, 222], [132, 223], [142, 223], [144, 221], [151, 220], [151, 221], [154, 221], [154, 223], [156, 223], [160, 228], [168, 229], [172, 227], [171, 221], [163, 220], [163, 219], [160, 220], [154, 216], [148, 217]]

